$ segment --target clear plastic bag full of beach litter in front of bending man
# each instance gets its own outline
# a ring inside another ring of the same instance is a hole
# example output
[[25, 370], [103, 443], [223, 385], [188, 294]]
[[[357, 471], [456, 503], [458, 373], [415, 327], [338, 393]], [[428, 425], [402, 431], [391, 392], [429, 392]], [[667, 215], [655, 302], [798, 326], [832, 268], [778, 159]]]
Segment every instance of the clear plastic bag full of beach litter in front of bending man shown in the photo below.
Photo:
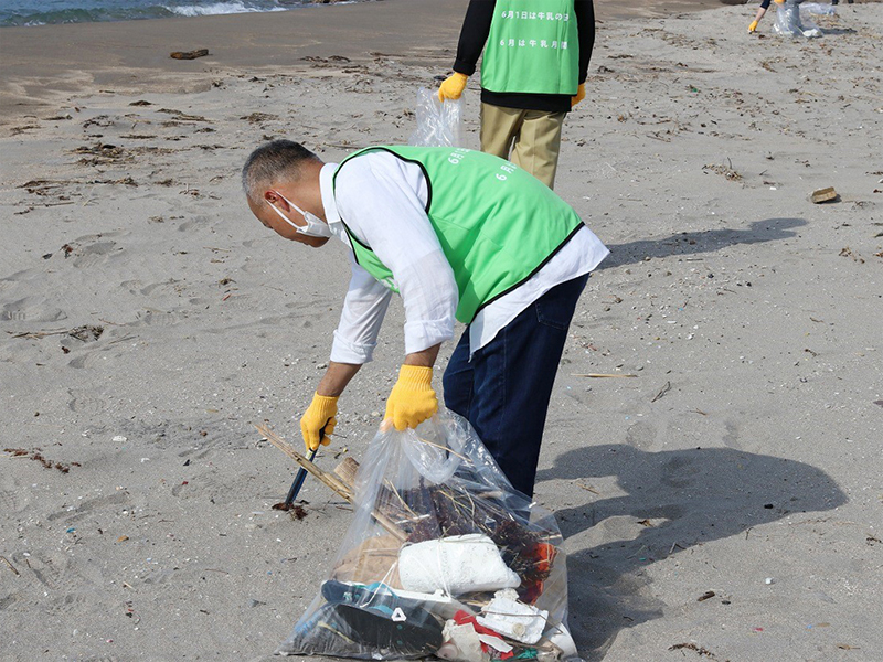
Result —
[[554, 516], [515, 491], [469, 423], [377, 433], [352, 524], [277, 653], [578, 660]]

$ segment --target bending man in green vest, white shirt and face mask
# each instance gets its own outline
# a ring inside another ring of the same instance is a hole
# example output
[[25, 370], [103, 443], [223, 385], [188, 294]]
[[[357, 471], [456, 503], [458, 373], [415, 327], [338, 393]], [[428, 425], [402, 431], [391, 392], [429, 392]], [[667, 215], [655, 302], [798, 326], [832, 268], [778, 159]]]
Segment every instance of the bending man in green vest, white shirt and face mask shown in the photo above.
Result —
[[329, 442], [338, 398], [371, 361], [398, 292], [405, 357], [385, 418], [403, 430], [437, 410], [433, 365], [455, 319], [467, 324], [445, 371], [445, 404], [531, 495], [571, 318], [608, 254], [576, 213], [520, 168], [462, 148], [372, 147], [338, 164], [274, 140], [248, 157], [243, 185], [280, 236], [313, 247], [337, 237], [350, 249], [328, 370], [300, 419], [307, 448]]

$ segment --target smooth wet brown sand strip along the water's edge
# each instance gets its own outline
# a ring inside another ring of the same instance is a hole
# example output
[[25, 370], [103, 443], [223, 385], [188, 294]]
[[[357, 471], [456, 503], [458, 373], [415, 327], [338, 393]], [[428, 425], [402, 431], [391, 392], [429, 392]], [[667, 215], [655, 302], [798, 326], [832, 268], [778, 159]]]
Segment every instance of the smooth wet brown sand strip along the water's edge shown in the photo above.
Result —
[[[723, 7], [720, 0], [643, 0], [627, 9], [596, 3], [596, 14], [603, 29], [605, 21]], [[456, 53], [465, 9], [466, 0], [383, 0], [286, 12], [2, 28], [0, 126], [88, 85], [130, 93], [198, 92], [221, 71], [284, 73], [305, 57], [337, 55], [362, 64], [382, 53], [408, 65], [433, 63], [444, 74]], [[210, 51], [206, 57], [169, 57], [172, 51], [203, 47]]]

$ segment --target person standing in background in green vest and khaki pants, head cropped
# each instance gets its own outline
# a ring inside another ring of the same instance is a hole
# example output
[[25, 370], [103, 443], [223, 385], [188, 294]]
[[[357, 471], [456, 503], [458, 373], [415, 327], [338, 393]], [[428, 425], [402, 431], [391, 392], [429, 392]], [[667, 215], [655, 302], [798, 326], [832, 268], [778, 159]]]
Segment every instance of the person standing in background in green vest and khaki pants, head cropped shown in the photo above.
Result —
[[[487, 42], [487, 45], [486, 45]], [[471, 0], [454, 74], [438, 97], [458, 99], [481, 63], [481, 151], [510, 158], [550, 189], [564, 116], [586, 96], [595, 44], [592, 0]]]

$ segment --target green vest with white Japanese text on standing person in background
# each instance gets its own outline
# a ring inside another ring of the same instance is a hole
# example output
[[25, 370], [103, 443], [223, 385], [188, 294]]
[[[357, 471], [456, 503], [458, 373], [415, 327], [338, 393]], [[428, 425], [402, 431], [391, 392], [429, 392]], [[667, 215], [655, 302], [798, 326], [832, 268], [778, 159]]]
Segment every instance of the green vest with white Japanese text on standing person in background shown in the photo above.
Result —
[[575, 95], [579, 31], [574, 0], [497, 0], [481, 62], [491, 92]]

